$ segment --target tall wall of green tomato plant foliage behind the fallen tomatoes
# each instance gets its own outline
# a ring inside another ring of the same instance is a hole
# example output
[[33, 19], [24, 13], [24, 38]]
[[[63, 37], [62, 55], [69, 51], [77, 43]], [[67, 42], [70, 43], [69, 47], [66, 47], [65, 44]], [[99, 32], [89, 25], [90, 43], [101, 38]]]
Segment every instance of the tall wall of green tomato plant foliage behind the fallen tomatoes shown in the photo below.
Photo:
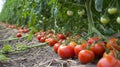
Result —
[[[120, 16], [119, 3], [119, 0], [6, 0], [0, 20], [18, 26], [28, 26], [36, 31], [85, 31], [103, 37], [103, 34], [111, 35], [120, 30], [117, 19]], [[109, 14], [109, 8], [116, 8], [116, 12]], [[107, 16], [109, 23], [101, 23], [102, 16]]]

